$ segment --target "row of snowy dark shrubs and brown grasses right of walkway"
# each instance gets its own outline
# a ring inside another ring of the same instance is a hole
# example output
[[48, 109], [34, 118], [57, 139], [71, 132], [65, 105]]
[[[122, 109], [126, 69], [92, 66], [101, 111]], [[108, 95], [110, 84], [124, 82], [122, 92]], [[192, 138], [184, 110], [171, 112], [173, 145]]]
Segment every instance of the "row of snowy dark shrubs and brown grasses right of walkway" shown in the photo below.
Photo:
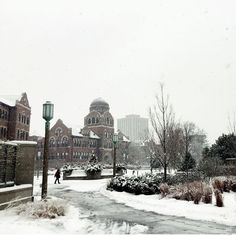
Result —
[[[201, 179], [197, 175], [193, 175], [191, 178]], [[216, 197], [216, 205], [222, 207], [222, 193], [236, 191], [236, 177], [214, 178], [210, 184], [202, 180], [186, 182], [186, 179], [178, 174], [168, 176], [167, 183], [163, 183], [162, 175], [145, 174], [138, 177], [114, 177], [107, 185], [109, 190], [145, 195], [161, 194], [162, 197], [168, 195], [177, 200], [193, 201], [195, 204], [199, 204], [200, 201], [206, 204], [212, 203], [212, 187]]]

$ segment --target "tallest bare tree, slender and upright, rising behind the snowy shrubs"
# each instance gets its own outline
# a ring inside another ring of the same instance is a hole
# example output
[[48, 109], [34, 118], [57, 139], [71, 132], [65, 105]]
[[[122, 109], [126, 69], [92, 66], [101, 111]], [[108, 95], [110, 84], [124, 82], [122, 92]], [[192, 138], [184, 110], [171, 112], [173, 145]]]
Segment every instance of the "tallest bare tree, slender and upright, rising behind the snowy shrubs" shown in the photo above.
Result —
[[169, 104], [168, 96], [164, 94], [164, 85], [160, 84], [160, 96], [156, 95], [156, 104], [149, 109], [149, 116], [153, 128], [148, 146], [150, 155], [156, 158], [164, 169], [164, 181], [167, 178], [167, 167], [176, 156], [173, 153], [175, 138], [174, 112]]

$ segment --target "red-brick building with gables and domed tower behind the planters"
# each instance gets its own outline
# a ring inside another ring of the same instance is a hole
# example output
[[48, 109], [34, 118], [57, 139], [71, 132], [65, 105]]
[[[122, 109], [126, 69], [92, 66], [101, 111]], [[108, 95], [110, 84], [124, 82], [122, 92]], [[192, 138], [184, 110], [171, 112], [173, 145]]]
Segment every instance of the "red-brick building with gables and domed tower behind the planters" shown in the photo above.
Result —
[[[75, 132], [61, 119], [49, 132], [49, 166], [61, 166], [65, 162], [86, 162], [92, 154], [98, 161], [112, 163], [114, 119], [109, 104], [102, 98], [95, 99], [84, 118], [84, 127]], [[37, 141], [37, 155], [42, 159], [44, 138], [30, 137]]]

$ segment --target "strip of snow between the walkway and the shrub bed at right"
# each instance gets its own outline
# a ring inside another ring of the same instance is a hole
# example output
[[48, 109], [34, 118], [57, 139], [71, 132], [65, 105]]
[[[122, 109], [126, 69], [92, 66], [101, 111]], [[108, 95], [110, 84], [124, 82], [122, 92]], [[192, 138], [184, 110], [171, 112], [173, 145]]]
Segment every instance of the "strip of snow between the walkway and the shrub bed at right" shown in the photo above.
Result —
[[182, 216], [193, 220], [206, 220], [219, 224], [236, 226], [236, 193], [224, 193], [224, 207], [212, 204], [160, 198], [160, 195], [133, 195], [126, 192], [101, 191], [105, 196], [139, 210], [152, 211], [163, 215]]

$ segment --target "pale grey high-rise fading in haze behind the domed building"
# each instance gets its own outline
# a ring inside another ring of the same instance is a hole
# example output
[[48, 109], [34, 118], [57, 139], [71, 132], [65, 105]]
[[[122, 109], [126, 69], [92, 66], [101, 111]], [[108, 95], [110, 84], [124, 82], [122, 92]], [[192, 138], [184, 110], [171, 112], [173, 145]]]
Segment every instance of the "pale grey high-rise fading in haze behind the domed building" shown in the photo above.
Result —
[[127, 115], [117, 120], [117, 129], [134, 143], [142, 143], [148, 131], [148, 119], [139, 115]]

